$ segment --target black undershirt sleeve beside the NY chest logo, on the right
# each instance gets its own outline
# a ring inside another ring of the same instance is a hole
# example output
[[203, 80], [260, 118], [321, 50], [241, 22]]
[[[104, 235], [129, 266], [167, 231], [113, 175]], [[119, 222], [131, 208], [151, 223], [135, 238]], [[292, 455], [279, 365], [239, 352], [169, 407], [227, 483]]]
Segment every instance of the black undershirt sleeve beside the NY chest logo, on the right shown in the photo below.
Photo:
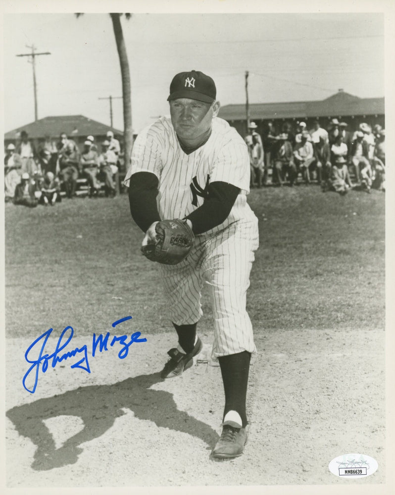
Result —
[[203, 204], [186, 217], [192, 222], [194, 234], [202, 234], [224, 222], [239, 193], [240, 188], [233, 184], [220, 181], [209, 184]]

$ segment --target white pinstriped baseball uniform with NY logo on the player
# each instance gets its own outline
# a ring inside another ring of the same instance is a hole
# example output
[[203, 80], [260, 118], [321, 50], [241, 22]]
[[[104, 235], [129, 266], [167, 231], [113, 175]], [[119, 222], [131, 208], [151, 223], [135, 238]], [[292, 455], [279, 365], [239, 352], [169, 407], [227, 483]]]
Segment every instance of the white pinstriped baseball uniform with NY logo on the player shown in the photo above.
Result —
[[134, 144], [125, 177], [151, 172], [159, 181], [156, 197], [162, 219], [184, 218], [203, 204], [209, 183], [240, 188], [226, 220], [196, 236], [187, 259], [160, 265], [168, 312], [177, 325], [196, 323], [202, 315], [200, 292], [209, 286], [214, 313], [213, 357], [254, 352], [252, 326], [246, 311], [249, 274], [258, 247], [257, 218], [247, 204], [249, 157], [237, 131], [216, 117], [207, 142], [190, 154], [180, 147], [170, 117], [161, 117], [142, 131]]

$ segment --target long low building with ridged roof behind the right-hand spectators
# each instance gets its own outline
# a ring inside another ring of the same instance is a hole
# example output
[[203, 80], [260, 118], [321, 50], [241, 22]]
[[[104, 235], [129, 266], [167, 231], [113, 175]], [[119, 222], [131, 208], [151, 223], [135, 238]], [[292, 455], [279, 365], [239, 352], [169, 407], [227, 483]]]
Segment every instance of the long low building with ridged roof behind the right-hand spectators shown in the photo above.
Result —
[[[245, 104], [225, 105], [219, 110], [219, 117], [235, 127], [244, 137], [247, 134], [247, 115]], [[307, 128], [313, 126], [318, 118], [322, 127], [326, 128], [332, 118], [348, 124], [349, 129], [356, 129], [362, 122], [371, 126], [380, 124], [385, 127], [385, 105], [383, 98], [358, 98], [343, 90], [324, 100], [289, 101], [279, 103], [251, 103], [249, 117], [263, 133], [268, 122], [272, 122], [280, 130], [284, 122], [297, 123], [304, 121]]]

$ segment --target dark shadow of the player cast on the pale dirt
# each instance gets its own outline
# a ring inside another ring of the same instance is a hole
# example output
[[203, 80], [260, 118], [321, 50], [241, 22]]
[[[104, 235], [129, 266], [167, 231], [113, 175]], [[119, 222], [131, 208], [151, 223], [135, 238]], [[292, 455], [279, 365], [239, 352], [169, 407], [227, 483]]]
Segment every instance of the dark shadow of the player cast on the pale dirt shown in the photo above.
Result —
[[[32, 468], [45, 471], [74, 464], [83, 451], [84, 442], [99, 438], [114, 424], [115, 418], [131, 409], [139, 419], [152, 421], [159, 427], [188, 433], [213, 447], [218, 434], [207, 424], [184, 411], [179, 411], [172, 394], [150, 390], [162, 382], [159, 373], [128, 378], [113, 385], [79, 387], [59, 396], [38, 399], [13, 407], [6, 412], [17, 432], [36, 446]], [[56, 449], [55, 442], [43, 420], [61, 415], [78, 416], [84, 428]], [[133, 439], [131, 438], [131, 441]], [[134, 445], [134, 449], [138, 449]]]

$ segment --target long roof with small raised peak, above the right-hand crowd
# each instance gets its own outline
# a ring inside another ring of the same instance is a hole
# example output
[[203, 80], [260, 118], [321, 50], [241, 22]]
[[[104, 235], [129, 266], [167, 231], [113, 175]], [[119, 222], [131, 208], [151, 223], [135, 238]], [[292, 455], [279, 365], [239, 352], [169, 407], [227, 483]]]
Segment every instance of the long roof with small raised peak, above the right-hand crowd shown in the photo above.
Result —
[[[384, 97], [358, 98], [342, 90], [327, 99], [318, 101], [251, 103], [249, 105], [249, 116], [252, 120], [375, 114], [384, 114]], [[218, 116], [225, 120], [246, 120], [246, 105], [225, 105], [220, 108]]]

